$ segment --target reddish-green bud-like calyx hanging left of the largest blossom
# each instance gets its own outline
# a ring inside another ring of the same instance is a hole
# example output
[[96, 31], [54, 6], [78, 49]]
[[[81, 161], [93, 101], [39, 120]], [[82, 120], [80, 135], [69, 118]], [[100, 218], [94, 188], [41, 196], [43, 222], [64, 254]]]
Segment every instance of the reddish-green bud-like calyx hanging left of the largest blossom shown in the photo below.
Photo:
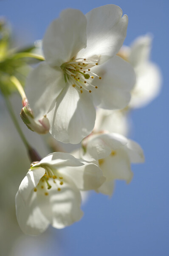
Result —
[[20, 112], [20, 117], [22, 118], [25, 125], [30, 129], [31, 131], [35, 131], [38, 134], [46, 134], [49, 131], [50, 124], [49, 120], [46, 116], [43, 116], [39, 120], [34, 119], [34, 113], [29, 107], [29, 105], [26, 105], [22, 108]]

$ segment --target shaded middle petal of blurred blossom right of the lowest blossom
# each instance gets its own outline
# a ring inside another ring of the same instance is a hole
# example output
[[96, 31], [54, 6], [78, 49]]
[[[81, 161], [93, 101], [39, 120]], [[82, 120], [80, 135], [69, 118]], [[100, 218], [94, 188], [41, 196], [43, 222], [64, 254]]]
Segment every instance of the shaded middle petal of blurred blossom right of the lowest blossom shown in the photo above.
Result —
[[99, 160], [99, 166], [107, 180], [126, 180], [129, 183], [132, 179], [130, 159], [127, 152], [122, 148]]

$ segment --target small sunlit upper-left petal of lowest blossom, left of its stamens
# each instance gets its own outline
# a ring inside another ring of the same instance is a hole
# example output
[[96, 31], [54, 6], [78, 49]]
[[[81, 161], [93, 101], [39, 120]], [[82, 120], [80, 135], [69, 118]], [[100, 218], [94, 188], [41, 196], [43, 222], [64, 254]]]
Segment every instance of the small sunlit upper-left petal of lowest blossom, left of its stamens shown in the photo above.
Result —
[[39, 183], [39, 180], [42, 178], [42, 176], [45, 174], [45, 169], [38, 167], [34, 170], [29, 170], [26, 176], [23, 178], [22, 182], [19, 186], [19, 193], [22, 195], [23, 200], [27, 201], [28, 197], [34, 189], [34, 187], [37, 186]]

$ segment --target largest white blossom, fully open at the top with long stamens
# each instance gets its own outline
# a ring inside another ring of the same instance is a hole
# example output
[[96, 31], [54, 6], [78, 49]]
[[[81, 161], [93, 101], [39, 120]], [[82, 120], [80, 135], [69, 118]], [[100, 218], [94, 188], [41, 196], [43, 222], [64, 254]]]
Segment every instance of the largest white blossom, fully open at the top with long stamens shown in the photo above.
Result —
[[79, 143], [94, 127], [95, 106], [124, 108], [135, 73], [116, 56], [126, 37], [128, 17], [115, 5], [86, 15], [66, 9], [43, 38], [45, 61], [27, 80], [35, 117], [47, 114], [50, 132], [64, 143]]

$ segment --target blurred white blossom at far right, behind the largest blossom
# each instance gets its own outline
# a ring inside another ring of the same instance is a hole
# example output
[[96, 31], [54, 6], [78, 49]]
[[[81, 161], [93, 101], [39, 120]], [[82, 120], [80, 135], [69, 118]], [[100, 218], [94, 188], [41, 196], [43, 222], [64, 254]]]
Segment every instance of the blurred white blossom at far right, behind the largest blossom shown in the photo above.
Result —
[[118, 53], [134, 67], [136, 73], [130, 108], [144, 107], [160, 93], [161, 71], [150, 60], [151, 48], [152, 36], [147, 34], [136, 38], [131, 47], [122, 47]]

